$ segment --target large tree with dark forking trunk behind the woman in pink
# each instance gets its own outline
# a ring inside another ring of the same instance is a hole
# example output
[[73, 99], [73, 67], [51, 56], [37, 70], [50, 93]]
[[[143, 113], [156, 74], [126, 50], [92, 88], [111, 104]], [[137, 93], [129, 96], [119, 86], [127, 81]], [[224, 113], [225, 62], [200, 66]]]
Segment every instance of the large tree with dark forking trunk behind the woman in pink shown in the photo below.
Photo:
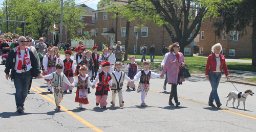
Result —
[[[128, 21], [138, 19], [144, 23], [154, 22], [163, 25], [172, 42], [180, 43], [180, 51], [184, 53], [184, 47], [190, 44], [198, 35], [201, 22], [210, 15], [216, 16], [219, 4], [227, 5], [232, 1], [215, 0], [132, 0], [119, 1], [123, 4], [113, 4], [106, 9], [108, 12], [117, 12], [115, 17], [124, 16]], [[127, 4], [131, 3], [131, 4]], [[191, 33], [195, 32], [190, 39]]]

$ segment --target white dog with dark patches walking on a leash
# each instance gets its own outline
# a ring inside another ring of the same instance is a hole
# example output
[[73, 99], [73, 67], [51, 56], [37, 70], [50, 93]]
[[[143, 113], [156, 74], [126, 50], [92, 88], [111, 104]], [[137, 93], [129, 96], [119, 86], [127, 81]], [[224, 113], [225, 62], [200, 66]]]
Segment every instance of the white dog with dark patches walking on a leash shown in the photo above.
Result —
[[[234, 107], [234, 101], [236, 101], [236, 99], [237, 99], [237, 100], [238, 100], [237, 109], [238, 109], [238, 107], [239, 107], [239, 105], [240, 105], [240, 101], [244, 101], [244, 110], [246, 110], [246, 109], [245, 109], [245, 100], [246, 100], [246, 98], [247, 98], [247, 96], [248, 96], [249, 94], [252, 96], [254, 93], [253, 93], [250, 89], [247, 89], [247, 90], [244, 91], [244, 92], [231, 91], [231, 92], [227, 95], [227, 97], [229, 97], [228, 100], [227, 100], [227, 102], [230, 101], [230, 100], [233, 98], [233, 107]], [[222, 97], [224, 97], [224, 96], [222, 96]], [[224, 98], [227, 98], [227, 97], [224, 97]], [[227, 106], [227, 104], [226, 104], [226, 106]]]

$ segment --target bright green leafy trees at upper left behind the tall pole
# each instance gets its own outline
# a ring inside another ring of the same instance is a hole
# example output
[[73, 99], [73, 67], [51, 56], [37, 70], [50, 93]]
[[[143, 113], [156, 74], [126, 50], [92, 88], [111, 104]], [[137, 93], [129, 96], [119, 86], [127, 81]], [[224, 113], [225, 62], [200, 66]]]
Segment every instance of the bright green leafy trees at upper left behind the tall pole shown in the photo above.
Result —
[[[26, 17], [26, 30], [34, 32], [42, 37], [48, 29], [54, 31], [52, 25], [60, 23], [60, 0], [8, 0], [8, 14], [22, 18]], [[28, 7], [28, 8], [25, 8]], [[75, 37], [77, 27], [83, 27], [81, 22], [78, 22], [79, 16], [82, 16], [82, 8], [75, 7], [74, 0], [67, 0], [63, 4], [63, 25], [69, 27], [71, 38]]]

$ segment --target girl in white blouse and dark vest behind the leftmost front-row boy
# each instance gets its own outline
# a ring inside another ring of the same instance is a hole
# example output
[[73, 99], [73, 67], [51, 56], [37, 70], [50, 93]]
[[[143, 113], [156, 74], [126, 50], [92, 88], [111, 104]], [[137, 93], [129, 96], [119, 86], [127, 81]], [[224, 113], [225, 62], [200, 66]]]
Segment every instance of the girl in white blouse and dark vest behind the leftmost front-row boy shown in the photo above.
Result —
[[[44, 74], [43, 75], [49, 75], [52, 72], [56, 71], [56, 65], [59, 63], [59, 59], [55, 55], [55, 50], [52, 47], [48, 48], [49, 55], [44, 56], [44, 59], [42, 59], [42, 65], [44, 66]], [[48, 83], [48, 91], [52, 93], [52, 85], [50, 90], [50, 79], [46, 79]]]

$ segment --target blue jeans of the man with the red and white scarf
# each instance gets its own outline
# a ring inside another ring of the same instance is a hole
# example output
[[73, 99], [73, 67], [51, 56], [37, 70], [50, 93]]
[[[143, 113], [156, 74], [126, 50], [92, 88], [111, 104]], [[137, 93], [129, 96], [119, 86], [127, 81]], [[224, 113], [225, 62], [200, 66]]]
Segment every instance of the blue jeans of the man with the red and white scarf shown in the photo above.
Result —
[[17, 108], [18, 107], [23, 108], [24, 106], [25, 99], [28, 95], [30, 76], [31, 76], [31, 71], [28, 71], [25, 73], [14, 72], [13, 82], [16, 89], [15, 100], [16, 100]]

